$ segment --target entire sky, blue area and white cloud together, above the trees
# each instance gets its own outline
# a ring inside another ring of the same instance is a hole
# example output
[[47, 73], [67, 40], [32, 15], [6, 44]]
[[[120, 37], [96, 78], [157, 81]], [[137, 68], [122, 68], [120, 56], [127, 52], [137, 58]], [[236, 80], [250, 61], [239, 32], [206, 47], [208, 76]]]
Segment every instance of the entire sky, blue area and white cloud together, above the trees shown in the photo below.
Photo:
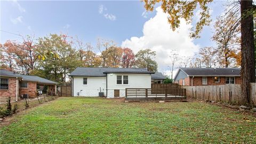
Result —
[[[213, 22], [221, 14], [223, 3], [210, 4]], [[215, 45], [210, 39], [214, 31], [212, 26], [205, 27], [199, 39], [188, 37], [188, 28], [193, 23], [185, 23], [180, 31], [173, 33], [160, 9], [143, 15], [145, 8], [140, 1], [1, 1], [0, 4], [1, 43], [7, 39], [22, 41], [14, 34], [37, 38], [63, 33], [78, 36], [92, 45], [97, 38], [112, 39], [134, 52], [145, 48], [157, 51], [159, 71], [169, 69], [166, 54], [170, 51], [165, 49], [177, 50], [181, 55], [189, 51], [191, 55], [200, 47]]]

